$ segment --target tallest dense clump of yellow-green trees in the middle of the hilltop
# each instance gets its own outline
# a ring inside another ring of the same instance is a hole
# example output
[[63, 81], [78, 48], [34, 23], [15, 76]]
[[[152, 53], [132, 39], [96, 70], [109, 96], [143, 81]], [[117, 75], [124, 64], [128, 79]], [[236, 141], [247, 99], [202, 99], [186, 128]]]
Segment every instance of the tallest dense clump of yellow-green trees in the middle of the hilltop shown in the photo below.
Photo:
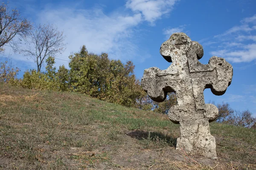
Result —
[[88, 53], [85, 46], [71, 55], [70, 60], [70, 86], [74, 91], [135, 107], [141, 91], [131, 61], [123, 64], [120, 60], [110, 60], [105, 53]]

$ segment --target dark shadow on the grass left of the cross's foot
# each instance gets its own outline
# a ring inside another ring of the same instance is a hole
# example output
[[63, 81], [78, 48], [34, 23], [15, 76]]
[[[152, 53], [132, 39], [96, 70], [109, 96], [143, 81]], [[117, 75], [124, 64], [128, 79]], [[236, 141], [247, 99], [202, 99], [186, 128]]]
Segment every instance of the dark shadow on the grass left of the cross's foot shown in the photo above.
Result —
[[128, 131], [126, 133], [126, 135], [131, 136], [132, 138], [135, 138], [138, 140], [149, 139], [153, 142], [155, 142], [155, 141], [166, 142], [168, 144], [171, 144], [174, 147], [176, 147], [176, 144], [177, 144], [177, 138], [173, 138], [172, 136], [165, 135], [165, 134], [159, 133], [159, 132], [132, 130], [132, 131]]

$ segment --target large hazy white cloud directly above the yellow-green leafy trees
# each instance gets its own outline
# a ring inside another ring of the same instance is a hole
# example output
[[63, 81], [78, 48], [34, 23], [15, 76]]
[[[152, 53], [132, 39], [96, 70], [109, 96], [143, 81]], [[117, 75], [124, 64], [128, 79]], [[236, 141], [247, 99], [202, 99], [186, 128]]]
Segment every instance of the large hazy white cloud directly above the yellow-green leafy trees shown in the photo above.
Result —
[[[89, 52], [106, 52], [113, 59], [126, 61], [136, 57], [139, 49], [133, 42], [134, 27], [141, 21], [141, 14], [106, 15], [101, 8], [76, 10], [73, 8], [45, 9], [38, 14], [38, 22], [56, 24], [67, 36], [67, 49], [58, 58], [69, 60], [72, 52], [86, 45]], [[143, 56], [142, 56], [143, 57]], [[67, 65], [68, 62], [58, 61]]]

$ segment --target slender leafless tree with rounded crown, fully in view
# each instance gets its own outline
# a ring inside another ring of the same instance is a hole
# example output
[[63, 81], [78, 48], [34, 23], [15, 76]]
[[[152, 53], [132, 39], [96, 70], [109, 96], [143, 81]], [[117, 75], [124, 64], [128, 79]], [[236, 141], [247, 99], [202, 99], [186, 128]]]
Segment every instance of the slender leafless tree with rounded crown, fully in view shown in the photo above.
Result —
[[64, 38], [57, 26], [38, 25], [29, 33], [27, 48], [21, 49], [21, 52], [34, 58], [40, 72], [45, 59], [65, 50]]

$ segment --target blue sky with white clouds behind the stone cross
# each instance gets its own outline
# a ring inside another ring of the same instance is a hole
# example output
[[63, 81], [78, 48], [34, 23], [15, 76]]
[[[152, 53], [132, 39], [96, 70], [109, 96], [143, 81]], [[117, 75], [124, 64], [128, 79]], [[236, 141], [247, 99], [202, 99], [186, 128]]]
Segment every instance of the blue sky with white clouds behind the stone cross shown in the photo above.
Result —
[[[206, 89], [205, 101], [228, 102], [256, 116], [255, 0], [12, 0], [9, 7], [17, 7], [34, 24], [55, 24], [64, 31], [67, 48], [56, 56], [57, 67], [68, 67], [68, 56], [86, 45], [88, 51], [106, 52], [111, 59], [132, 60], [139, 79], [146, 68], [169, 67], [160, 45], [172, 33], [185, 32], [203, 45], [200, 62], [218, 56], [233, 65], [226, 93], [214, 96]], [[36, 68], [33, 59], [5, 48], [20, 75]]]

